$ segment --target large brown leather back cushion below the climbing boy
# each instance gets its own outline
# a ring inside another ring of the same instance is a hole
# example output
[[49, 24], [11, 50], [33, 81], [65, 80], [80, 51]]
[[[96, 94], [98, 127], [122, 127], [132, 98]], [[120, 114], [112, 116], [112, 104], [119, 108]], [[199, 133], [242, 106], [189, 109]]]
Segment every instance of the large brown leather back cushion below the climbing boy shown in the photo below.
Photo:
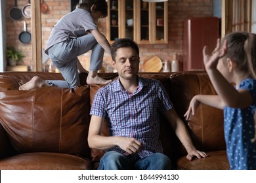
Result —
[[90, 157], [89, 86], [0, 91], [0, 122], [19, 153]]

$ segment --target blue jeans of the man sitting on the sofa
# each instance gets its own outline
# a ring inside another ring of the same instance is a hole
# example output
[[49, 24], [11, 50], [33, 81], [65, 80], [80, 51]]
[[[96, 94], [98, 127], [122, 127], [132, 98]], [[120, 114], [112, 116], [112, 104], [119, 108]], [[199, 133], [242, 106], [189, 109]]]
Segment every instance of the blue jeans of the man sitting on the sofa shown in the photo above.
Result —
[[171, 159], [161, 153], [146, 158], [138, 155], [125, 156], [116, 151], [109, 151], [100, 159], [99, 170], [170, 170]]

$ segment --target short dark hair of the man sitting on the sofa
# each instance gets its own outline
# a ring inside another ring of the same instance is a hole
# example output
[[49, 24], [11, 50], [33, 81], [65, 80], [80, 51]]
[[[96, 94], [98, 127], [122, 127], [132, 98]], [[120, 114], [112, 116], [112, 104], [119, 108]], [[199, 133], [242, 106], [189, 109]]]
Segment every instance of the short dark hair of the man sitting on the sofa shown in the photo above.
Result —
[[111, 56], [112, 56], [112, 60], [115, 62], [116, 62], [116, 52], [119, 48], [133, 48], [135, 52], [138, 54], [138, 56], [140, 54], [139, 47], [137, 43], [134, 42], [133, 40], [127, 39], [127, 38], [117, 39], [117, 41], [115, 41], [111, 46]]

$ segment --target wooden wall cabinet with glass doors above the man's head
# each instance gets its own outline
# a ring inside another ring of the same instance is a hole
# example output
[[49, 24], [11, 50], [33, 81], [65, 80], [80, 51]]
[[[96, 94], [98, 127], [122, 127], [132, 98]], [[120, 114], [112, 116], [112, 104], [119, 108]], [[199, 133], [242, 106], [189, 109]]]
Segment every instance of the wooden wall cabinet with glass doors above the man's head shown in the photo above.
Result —
[[168, 42], [168, 2], [146, 3], [142, 0], [108, 1], [106, 37], [110, 43], [131, 38], [138, 44]]

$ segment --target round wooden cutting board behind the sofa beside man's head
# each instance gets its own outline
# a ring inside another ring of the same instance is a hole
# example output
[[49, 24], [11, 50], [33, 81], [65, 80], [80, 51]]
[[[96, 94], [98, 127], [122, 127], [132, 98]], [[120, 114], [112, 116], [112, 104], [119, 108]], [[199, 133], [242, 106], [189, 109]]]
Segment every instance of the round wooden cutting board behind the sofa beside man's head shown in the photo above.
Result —
[[161, 58], [158, 56], [148, 56], [144, 59], [143, 68], [145, 72], [160, 72], [163, 67]]

